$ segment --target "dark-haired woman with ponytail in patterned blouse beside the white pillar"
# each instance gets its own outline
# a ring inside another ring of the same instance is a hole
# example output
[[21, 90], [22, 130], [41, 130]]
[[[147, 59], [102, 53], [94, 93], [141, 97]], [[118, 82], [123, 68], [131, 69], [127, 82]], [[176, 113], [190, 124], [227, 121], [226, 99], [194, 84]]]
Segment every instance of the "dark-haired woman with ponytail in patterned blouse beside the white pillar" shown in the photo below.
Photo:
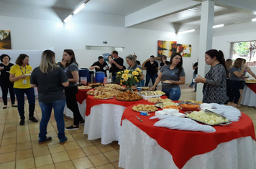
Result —
[[196, 83], [204, 83], [203, 102], [224, 104], [228, 100], [224, 54], [221, 50], [211, 49], [204, 57], [206, 64], [211, 65], [211, 69], [205, 78], [198, 75], [195, 79]]

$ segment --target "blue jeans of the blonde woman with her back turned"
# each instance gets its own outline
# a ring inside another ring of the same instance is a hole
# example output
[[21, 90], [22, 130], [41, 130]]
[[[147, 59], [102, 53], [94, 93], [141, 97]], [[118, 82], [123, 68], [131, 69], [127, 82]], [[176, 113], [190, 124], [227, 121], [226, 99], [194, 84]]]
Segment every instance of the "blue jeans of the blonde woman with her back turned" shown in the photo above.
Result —
[[65, 123], [63, 118], [63, 110], [65, 107], [65, 100], [57, 100], [55, 102], [39, 102], [42, 110], [42, 120], [40, 122], [40, 133], [39, 138], [41, 140], [46, 139], [47, 125], [52, 114], [52, 107], [54, 110], [54, 117], [57, 122], [58, 138], [65, 139]]

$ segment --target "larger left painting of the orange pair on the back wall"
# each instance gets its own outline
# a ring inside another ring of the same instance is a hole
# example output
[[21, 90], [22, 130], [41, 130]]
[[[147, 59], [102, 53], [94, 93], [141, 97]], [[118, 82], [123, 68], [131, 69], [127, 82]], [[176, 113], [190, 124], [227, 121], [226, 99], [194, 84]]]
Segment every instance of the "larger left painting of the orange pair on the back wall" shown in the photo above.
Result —
[[157, 41], [157, 57], [170, 57], [177, 51], [177, 42], [175, 41]]

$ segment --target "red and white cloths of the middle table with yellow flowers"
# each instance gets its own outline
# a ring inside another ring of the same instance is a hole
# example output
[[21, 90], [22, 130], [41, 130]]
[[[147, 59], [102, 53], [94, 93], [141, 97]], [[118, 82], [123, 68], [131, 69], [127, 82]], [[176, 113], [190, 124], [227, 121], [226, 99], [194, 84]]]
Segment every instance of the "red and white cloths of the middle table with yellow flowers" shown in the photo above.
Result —
[[[163, 96], [166, 98], [166, 96]], [[129, 105], [147, 104], [147, 100], [124, 102], [113, 99], [96, 100], [88, 95], [86, 99], [86, 122], [83, 134], [88, 135], [88, 140], [101, 138], [101, 144], [109, 144], [119, 140], [121, 118], [125, 108]]]

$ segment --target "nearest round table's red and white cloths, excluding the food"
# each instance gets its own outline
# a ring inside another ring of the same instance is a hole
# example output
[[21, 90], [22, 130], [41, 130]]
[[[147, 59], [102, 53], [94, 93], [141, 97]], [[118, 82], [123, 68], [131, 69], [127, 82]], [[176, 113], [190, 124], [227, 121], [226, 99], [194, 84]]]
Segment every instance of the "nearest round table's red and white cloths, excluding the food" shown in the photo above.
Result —
[[119, 167], [236, 169], [256, 166], [255, 129], [244, 113], [238, 122], [214, 126], [216, 132], [209, 133], [154, 127], [157, 120], [134, 112], [132, 106], [127, 107], [122, 116]]

